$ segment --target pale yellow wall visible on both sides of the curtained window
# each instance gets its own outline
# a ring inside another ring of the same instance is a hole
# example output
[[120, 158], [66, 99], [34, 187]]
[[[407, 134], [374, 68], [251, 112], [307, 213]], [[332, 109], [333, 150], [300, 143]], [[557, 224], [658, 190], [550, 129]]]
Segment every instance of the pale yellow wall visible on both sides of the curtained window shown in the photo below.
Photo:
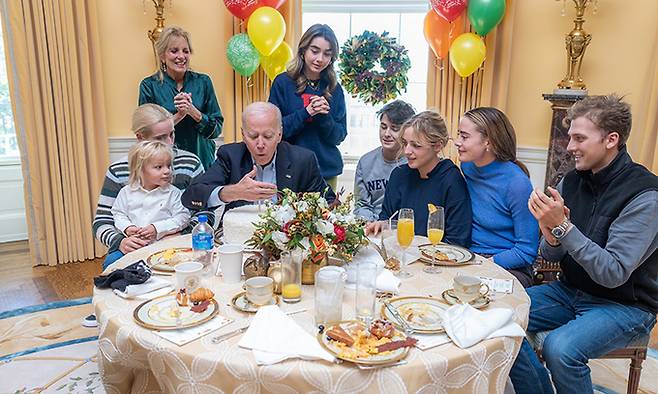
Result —
[[[519, 135], [519, 145], [546, 147], [550, 104], [541, 94], [550, 93], [566, 70], [564, 35], [573, 26], [573, 3], [562, 1], [508, 0], [516, 3], [513, 60], [506, 110]], [[145, 4], [145, 7], [142, 5]], [[220, 0], [171, 0], [167, 24], [180, 25], [192, 34], [194, 69], [211, 76], [227, 122], [233, 128], [227, 97], [233, 94], [233, 74], [225, 60], [223, 29], [231, 18]], [[645, 110], [644, 80], [658, 32], [656, 0], [599, 0], [586, 13], [585, 30], [592, 42], [585, 53], [582, 74], [590, 94], [618, 92], [632, 104], [635, 125]], [[102, 38], [105, 102], [110, 137], [130, 136], [130, 114], [137, 104], [138, 85], [154, 71], [151, 43], [146, 31], [155, 24], [150, 1], [98, 2]], [[146, 9], [146, 13], [144, 12]], [[631, 137], [631, 150], [639, 146]], [[639, 148], [637, 149], [639, 152]]]

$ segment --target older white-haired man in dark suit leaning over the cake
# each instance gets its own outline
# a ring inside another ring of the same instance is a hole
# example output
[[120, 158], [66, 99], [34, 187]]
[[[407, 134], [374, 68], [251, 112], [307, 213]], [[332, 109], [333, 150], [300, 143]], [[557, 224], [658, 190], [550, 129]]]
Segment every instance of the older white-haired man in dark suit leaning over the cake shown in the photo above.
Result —
[[243, 142], [223, 145], [208, 171], [183, 193], [191, 210], [235, 208], [276, 199], [277, 190], [335, 195], [320, 175], [315, 154], [281, 141], [281, 112], [270, 103], [255, 102], [242, 113]]

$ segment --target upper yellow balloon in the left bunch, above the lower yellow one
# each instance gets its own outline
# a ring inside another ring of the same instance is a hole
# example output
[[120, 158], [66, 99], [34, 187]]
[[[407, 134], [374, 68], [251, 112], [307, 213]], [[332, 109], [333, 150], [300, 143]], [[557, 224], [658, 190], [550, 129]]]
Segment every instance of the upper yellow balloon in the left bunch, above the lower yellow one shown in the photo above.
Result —
[[274, 8], [259, 7], [249, 17], [247, 34], [261, 55], [270, 56], [283, 42], [286, 23]]

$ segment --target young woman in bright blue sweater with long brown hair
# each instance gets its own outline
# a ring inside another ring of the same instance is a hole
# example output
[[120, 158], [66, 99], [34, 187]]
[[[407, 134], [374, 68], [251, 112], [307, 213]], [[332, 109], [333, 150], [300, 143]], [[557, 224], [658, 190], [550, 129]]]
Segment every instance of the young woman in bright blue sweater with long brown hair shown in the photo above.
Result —
[[512, 124], [496, 108], [472, 109], [459, 120], [455, 146], [473, 208], [471, 250], [532, 285], [539, 226], [528, 210], [532, 184], [516, 159]]

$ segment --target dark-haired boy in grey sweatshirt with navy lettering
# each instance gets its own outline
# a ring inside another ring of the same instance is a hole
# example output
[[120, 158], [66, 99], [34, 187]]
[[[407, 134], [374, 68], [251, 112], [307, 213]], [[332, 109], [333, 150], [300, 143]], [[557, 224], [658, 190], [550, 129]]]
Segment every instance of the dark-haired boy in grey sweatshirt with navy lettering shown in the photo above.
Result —
[[355, 215], [368, 221], [379, 218], [391, 171], [407, 162], [400, 146], [400, 128], [415, 112], [402, 100], [391, 101], [377, 112], [381, 146], [363, 155], [356, 165]]

